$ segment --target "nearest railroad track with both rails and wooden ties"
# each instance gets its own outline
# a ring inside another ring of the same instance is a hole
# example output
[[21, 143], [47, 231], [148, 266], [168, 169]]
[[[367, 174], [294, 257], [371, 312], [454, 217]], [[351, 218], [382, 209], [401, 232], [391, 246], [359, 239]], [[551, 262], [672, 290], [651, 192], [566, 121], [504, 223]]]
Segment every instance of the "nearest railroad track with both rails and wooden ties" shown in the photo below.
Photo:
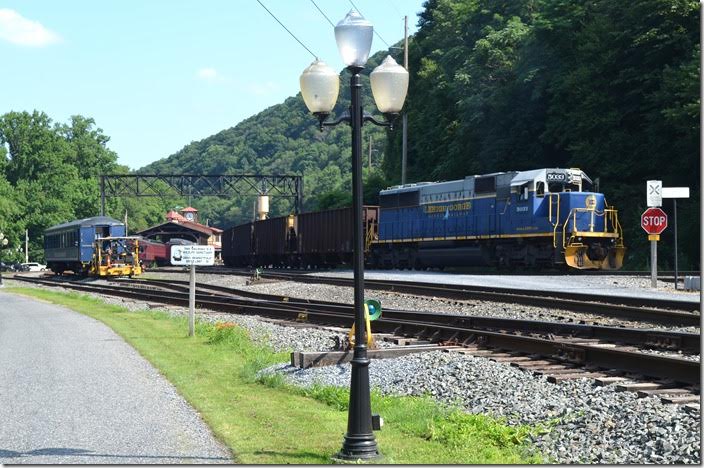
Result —
[[[118, 285], [106, 286], [38, 278], [16, 279], [147, 302], [188, 304], [187, 288], [178, 282], [119, 281]], [[347, 304], [272, 295], [243, 299], [232, 293], [229, 288], [201, 284], [196, 305], [221, 312], [256, 314], [311, 325], [346, 328], [353, 321], [352, 307]], [[384, 316], [374, 322], [374, 330], [388, 336], [410, 337], [411, 343], [420, 340], [462, 346], [463, 350], [459, 352], [502, 359], [531, 372], [549, 373], [555, 381], [578, 377], [598, 377], [604, 382], [609, 379], [612, 382], [645, 379], [650, 382], [636, 386], [636, 390], [660, 392], [668, 395], [673, 403], [698, 398], [694, 395], [698, 394], [700, 387], [699, 361], [645, 353], [638, 348], [697, 352], [700, 349], [698, 334], [401, 310], [385, 310]], [[664, 393], [666, 390], [673, 390], [675, 395], [687, 393], [673, 397]]]

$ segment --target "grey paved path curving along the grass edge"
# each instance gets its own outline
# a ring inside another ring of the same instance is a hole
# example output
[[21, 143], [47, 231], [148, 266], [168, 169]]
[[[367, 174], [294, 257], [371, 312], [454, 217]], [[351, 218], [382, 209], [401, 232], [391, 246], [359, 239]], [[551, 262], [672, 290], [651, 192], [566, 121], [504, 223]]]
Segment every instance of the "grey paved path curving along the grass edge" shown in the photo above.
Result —
[[107, 326], [0, 290], [0, 463], [232, 463]]

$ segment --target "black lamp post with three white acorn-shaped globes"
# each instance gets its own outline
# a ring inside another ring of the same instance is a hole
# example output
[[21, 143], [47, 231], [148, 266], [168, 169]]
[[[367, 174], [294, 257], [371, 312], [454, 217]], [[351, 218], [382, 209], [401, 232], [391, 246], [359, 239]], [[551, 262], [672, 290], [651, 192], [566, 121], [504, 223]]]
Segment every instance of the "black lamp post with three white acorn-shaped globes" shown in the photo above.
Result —
[[357, 11], [351, 10], [335, 26], [335, 40], [340, 55], [350, 72], [351, 104], [345, 113], [333, 122], [326, 122], [335, 106], [340, 89], [339, 75], [324, 62], [316, 60], [301, 75], [301, 94], [308, 109], [318, 118], [320, 129], [347, 122], [352, 127], [352, 216], [354, 217], [353, 268], [355, 342], [350, 382], [350, 405], [347, 433], [342, 449], [336, 455], [342, 460], [374, 460], [378, 458], [372, 429], [371, 398], [369, 391], [369, 358], [364, 326], [364, 232], [362, 210], [362, 125], [391, 127], [393, 118], [403, 107], [408, 90], [408, 72], [388, 56], [370, 75], [372, 94], [379, 110], [387, 117], [380, 122], [362, 110], [360, 72], [369, 57], [373, 37], [372, 24]]

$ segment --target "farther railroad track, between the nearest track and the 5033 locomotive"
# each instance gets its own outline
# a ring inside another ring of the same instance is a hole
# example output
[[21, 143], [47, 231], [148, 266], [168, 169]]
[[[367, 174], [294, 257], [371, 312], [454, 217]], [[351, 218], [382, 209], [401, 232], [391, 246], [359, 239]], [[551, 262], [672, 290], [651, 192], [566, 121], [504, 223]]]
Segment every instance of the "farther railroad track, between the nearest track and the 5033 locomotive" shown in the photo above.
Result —
[[[227, 274], [251, 276], [251, 271], [230, 270]], [[352, 287], [351, 278], [324, 277], [318, 275], [264, 272], [264, 279], [294, 281], [312, 284]], [[487, 286], [420, 283], [412, 281], [364, 280], [365, 289], [438, 297], [457, 301], [483, 300], [507, 302], [528, 306], [562, 309], [572, 312], [638, 320], [670, 326], [693, 326], [701, 324], [698, 301], [680, 301], [661, 298], [603, 296], [577, 292], [526, 291]]]

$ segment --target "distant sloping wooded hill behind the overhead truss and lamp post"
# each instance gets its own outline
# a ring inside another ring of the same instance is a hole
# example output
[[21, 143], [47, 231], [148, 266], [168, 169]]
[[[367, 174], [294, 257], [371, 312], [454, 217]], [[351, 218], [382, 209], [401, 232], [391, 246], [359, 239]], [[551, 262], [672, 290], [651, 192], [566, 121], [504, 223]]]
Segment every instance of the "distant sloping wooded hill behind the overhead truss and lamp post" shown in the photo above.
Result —
[[[368, 74], [386, 57], [371, 57], [362, 77], [364, 107], [375, 109]], [[307, 64], [301, 64], [301, 71]], [[291, 77], [298, 80], [298, 77]], [[349, 107], [349, 75], [342, 73], [340, 97], [333, 111], [339, 115]], [[320, 132], [299, 94], [252, 116], [233, 128], [192, 142], [176, 154], [139, 170], [142, 173], [245, 173], [303, 174], [306, 211], [344, 206], [352, 201], [350, 129], [347, 125]], [[371, 163], [369, 147], [371, 138]], [[384, 130], [373, 125], [364, 128], [364, 167], [367, 203], [376, 203], [378, 191], [386, 181], [381, 163], [386, 150]], [[252, 219], [254, 196], [222, 200], [201, 198], [194, 205], [201, 218], [220, 226], [230, 226]], [[271, 199], [272, 215], [288, 214], [292, 204], [285, 199]]]

